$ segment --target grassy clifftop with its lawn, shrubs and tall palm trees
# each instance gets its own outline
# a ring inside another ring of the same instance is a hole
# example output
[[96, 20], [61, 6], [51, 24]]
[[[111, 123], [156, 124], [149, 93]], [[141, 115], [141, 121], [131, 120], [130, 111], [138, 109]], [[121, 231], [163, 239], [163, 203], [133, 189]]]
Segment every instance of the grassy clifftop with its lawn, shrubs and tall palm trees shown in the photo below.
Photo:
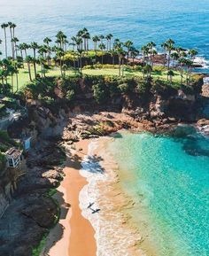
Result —
[[4, 49], [0, 55], [4, 52], [4, 58], [0, 59], [0, 93], [4, 94], [15, 93], [35, 79], [77, 74], [139, 76], [146, 81], [153, 77], [188, 85], [197, 55], [197, 50], [182, 49], [168, 39], [161, 44], [165, 53], [161, 56], [161, 66], [156, 66], [158, 51], [153, 42], [139, 50], [130, 40], [122, 43], [112, 34], [91, 36], [84, 27], [71, 39], [59, 31], [55, 42], [45, 37], [42, 45], [28, 44], [19, 43], [12, 22], [1, 27], [4, 38], [0, 44], [4, 41]]

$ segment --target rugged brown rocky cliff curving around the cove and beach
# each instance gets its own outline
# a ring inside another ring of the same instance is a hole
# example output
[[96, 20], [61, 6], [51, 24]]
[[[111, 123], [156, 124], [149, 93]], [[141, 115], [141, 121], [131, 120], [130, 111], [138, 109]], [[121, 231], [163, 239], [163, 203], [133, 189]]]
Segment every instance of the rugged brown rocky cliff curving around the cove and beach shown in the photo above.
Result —
[[[58, 206], [50, 198], [50, 189], [62, 179], [63, 142], [74, 144], [81, 138], [104, 136], [122, 128], [166, 131], [179, 122], [196, 124], [206, 118], [208, 98], [201, 95], [201, 88], [193, 94], [178, 90], [172, 96], [151, 94], [140, 98], [124, 94], [98, 105], [82, 80], [80, 86], [83, 93], [71, 104], [62, 97], [59, 84], [55, 89], [56, 107], [41, 100], [28, 100], [28, 118], [8, 129], [14, 138], [29, 133], [34, 147], [26, 156], [27, 172], [19, 177], [0, 219], [0, 256], [33, 255], [33, 249], [55, 223]], [[198, 123], [204, 128], [208, 120]], [[9, 176], [4, 175], [4, 179], [1, 196]]]

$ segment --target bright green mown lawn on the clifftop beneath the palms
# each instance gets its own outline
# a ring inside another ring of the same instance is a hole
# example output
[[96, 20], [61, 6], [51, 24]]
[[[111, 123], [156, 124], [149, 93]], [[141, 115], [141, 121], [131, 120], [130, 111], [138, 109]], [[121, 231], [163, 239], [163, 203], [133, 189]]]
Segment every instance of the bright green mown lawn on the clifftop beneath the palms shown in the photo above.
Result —
[[[37, 71], [39, 74], [41, 74], [41, 67], [37, 66]], [[32, 78], [35, 77], [33, 66], [31, 66], [31, 72], [32, 72]], [[74, 76], [76, 73], [74, 70], [67, 70], [66, 75], [72, 75]], [[89, 74], [89, 75], [119, 75], [118, 68], [97, 68], [97, 69], [83, 69], [82, 74]], [[179, 73], [174, 72], [173, 81], [174, 83], [179, 83], [181, 81], [181, 76]], [[46, 76], [59, 76], [60, 70], [58, 67], [54, 67], [53, 69], [50, 69], [47, 71]], [[159, 78], [161, 80], [166, 81], [166, 71], [163, 72], [152, 72], [152, 77]], [[135, 71], [131, 68], [124, 68], [124, 76], [138, 76], [143, 77], [143, 73], [141, 71]], [[8, 78], [8, 81], [11, 82], [11, 78]], [[14, 81], [14, 91], [17, 90], [17, 84], [15, 76], [13, 78]], [[24, 88], [24, 86], [29, 82], [29, 76], [27, 71], [27, 65], [25, 64], [25, 67], [22, 69], [19, 69], [19, 89]]]

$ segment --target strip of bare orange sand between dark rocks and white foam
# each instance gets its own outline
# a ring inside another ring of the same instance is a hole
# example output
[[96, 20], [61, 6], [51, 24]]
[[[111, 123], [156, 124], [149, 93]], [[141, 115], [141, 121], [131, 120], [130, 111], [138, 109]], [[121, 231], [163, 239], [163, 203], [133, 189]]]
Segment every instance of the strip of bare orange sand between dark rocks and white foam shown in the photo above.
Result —
[[49, 256], [95, 256], [97, 251], [95, 231], [90, 222], [81, 215], [79, 194], [86, 179], [80, 175], [81, 161], [88, 153], [88, 140], [66, 146], [65, 177], [54, 196], [61, 206], [60, 220], [50, 230], [41, 255]]

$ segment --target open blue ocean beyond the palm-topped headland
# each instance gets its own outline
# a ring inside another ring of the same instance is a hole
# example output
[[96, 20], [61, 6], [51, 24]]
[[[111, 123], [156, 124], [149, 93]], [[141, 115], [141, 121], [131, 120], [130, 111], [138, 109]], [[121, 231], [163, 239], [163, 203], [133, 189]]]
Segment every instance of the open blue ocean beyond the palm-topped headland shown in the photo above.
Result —
[[0, 23], [15, 22], [19, 39], [28, 43], [88, 27], [91, 34], [112, 33], [138, 47], [173, 38], [209, 60], [209, 0], [0, 0], [0, 10]]

